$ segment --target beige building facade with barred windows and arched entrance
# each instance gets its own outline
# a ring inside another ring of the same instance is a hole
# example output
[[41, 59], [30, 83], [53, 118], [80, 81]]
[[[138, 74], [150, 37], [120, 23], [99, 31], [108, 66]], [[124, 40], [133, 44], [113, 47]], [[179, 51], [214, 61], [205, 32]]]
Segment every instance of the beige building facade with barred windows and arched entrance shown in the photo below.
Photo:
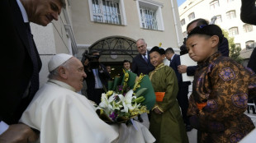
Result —
[[45, 27], [31, 23], [31, 31], [43, 63], [40, 85], [57, 53], [82, 59], [86, 50], [96, 49], [100, 62], [121, 66], [138, 54], [137, 39], [145, 39], [148, 49], [162, 43], [178, 52], [183, 44], [176, 0], [66, 0], [59, 21]]

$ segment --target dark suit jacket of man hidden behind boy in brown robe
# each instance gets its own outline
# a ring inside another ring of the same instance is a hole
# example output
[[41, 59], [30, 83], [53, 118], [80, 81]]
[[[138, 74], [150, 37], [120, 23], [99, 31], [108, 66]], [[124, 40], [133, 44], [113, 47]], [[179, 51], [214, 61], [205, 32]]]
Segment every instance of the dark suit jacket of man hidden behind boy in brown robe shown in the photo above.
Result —
[[[229, 48], [229, 41], [225, 37], [223, 38], [221, 44], [218, 47], [218, 51], [224, 57], [229, 57], [230, 48]], [[189, 66], [187, 67], [187, 76], [194, 76], [195, 71], [197, 70], [197, 66]]]

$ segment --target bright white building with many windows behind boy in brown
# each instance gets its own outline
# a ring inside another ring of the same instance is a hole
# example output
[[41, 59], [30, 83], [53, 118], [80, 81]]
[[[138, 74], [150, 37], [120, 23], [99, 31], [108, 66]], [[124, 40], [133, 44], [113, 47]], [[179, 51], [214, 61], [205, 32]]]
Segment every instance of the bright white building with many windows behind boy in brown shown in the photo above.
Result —
[[187, 0], [178, 7], [183, 36], [186, 36], [187, 24], [197, 18], [211, 21], [216, 16], [216, 25], [234, 37], [236, 46], [242, 48], [240, 56], [248, 59], [256, 46], [256, 26], [240, 20], [240, 0]]

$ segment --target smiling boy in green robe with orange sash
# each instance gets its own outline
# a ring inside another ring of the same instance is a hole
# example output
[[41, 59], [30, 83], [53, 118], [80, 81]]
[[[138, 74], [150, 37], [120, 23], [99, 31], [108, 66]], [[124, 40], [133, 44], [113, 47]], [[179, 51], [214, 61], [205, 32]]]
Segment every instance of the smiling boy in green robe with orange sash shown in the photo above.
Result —
[[178, 81], [175, 71], [164, 66], [164, 48], [150, 50], [150, 62], [155, 67], [149, 73], [156, 103], [150, 113], [149, 131], [157, 143], [187, 143], [187, 132], [183, 123], [178, 101]]

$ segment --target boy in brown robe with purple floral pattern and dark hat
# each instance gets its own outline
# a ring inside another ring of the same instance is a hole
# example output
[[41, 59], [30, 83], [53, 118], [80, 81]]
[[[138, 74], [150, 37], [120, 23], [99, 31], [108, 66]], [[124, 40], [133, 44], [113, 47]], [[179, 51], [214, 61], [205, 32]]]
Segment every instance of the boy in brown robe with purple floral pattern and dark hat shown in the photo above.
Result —
[[198, 63], [187, 115], [199, 143], [238, 142], [254, 129], [244, 112], [255, 94], [255, 74], [221, 56], [223, 37], [217, 25], [197, 26], [187, 36], [189, 57]]

